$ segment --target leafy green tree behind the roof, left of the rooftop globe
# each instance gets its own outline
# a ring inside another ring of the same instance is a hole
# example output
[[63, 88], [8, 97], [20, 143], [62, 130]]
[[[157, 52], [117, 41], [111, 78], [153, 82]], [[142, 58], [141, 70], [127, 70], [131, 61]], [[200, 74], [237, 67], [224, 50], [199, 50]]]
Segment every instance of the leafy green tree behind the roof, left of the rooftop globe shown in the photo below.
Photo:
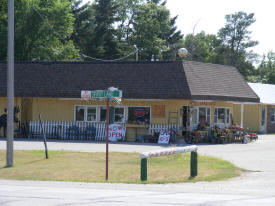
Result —
[[133, 17], [133, 33], [130, 44], [137, 45], [140, 58], [150, 60], [164, 59], [163, 54], [171, 50], [172, 45], [182, 38], [176, 31], [175, 18], [170, 18], [170, 12], [165, 5], [149, 2], [139, 6]]

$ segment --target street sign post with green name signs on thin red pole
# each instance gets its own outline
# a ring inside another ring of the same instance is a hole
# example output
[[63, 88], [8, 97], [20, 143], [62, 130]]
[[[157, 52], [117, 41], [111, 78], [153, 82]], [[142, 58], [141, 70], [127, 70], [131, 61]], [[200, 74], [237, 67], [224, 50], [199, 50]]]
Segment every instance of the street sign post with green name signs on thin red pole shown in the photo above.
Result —
[[85, 100], [90, 99], [106, 99], [106, 176], [105, 179], [108, 180], [109, 176], [109, 111], [110, 111], [110, 101], [112, 98], [121, 99], [122, 91], [117, 88], [110, 87], [108, 90], [94, 90], [94, 91], [81, 91], [81, 98]]

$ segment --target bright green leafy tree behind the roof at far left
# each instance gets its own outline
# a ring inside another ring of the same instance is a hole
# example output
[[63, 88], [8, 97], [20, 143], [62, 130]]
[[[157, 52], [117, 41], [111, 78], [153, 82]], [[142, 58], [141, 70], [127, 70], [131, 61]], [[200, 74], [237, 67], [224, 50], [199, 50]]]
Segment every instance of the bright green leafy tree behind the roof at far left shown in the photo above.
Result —
[[[0, 28], [1, 33], [4, 33], [7, 27], [7, 5], [1, 4], [0, 10]], [[79, 53], [69, 40], [73, 24], [69, 0], [16, 0], [15, 60], [75, 59]], [[7, 47], [3, 43], [6, 41], [6, 36], [0, 39], [0, 45], [3, 45], [1, 60], [6, 59]]]

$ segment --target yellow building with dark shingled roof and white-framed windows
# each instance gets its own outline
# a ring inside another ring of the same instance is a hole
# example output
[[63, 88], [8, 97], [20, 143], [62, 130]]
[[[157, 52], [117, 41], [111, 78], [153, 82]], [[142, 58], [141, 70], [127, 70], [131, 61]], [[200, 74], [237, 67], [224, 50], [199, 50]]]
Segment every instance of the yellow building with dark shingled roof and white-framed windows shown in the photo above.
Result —
[[[0, 115], [6, 107], [6, 70], [6, 62], [0, 62]], [[15, 63], [15, 105], [20, 107], [21, 122], [37, 121], [38, 114], [44, 121], [104, 122], [105, 103], [83, 101], [80, 93], [109, 87], [123, 92], [122, 104], [112, 106], [114, 121], [125, 124], [129, 141], [148, 133], [150, 124], [176, 124], [183, 131], [201, 122], [226, 127], [235, 119], [244, 120], [236, 105], [259, 103], [237, 69], [225, 65], [192, 61]]]

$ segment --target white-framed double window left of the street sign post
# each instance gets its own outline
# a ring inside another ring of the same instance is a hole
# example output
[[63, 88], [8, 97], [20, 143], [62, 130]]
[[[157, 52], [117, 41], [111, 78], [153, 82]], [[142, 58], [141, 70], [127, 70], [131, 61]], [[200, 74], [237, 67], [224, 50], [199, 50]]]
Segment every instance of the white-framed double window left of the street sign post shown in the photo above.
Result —
[[96, 121], [96, 107], [75, 106], [75, 121]]

